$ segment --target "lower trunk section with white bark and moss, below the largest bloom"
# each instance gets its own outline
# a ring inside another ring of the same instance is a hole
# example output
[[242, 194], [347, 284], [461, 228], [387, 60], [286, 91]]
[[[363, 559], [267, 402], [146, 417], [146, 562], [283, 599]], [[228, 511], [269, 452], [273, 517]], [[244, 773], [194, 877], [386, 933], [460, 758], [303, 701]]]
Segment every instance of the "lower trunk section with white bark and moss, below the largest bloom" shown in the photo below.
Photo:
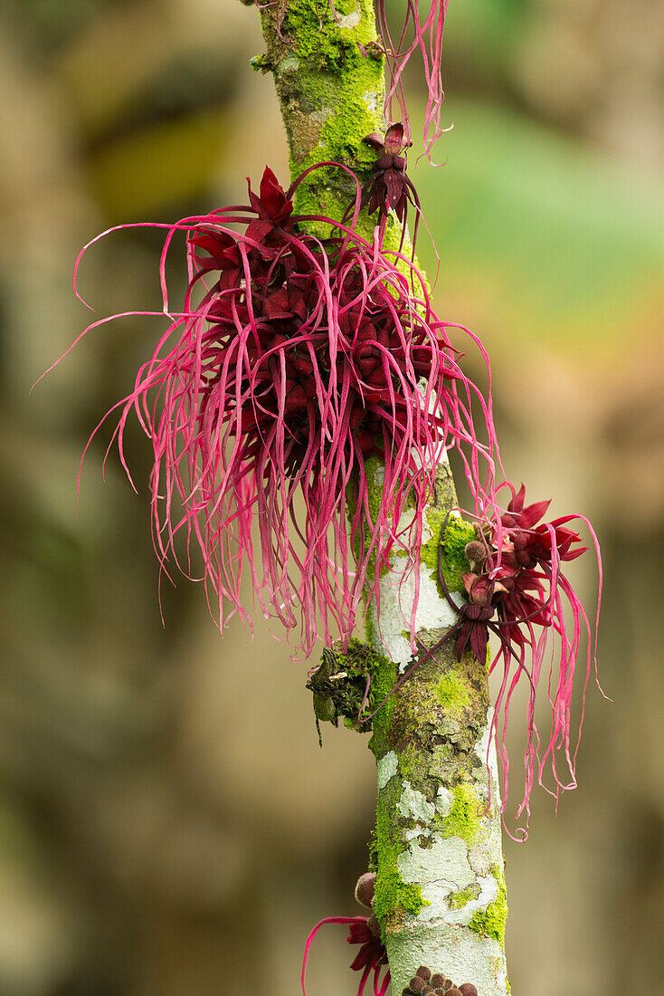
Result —
[[[422, 548], [415, 628], [426, 647], [457, 621], [437, 581], [439, 545], [453, 596], [469, 570], [464, 548], [474, 531], [459, 516], [448, 518], [455, 505], [444, 463]], [[374, 645], [391, 661], [382, 687], [412, 665], [394, 566], [381, 582], [379, 623], [369, 607]], [[371, 739], [378, 770], [375, 912], [393, 991], [426, 965], [457, 986], [473, 983], [480, 996], [504, 996], [507, 900], [487, 668], [471, 652], [458, 661], [453, 641], [420, 655], [422, 663], [374, 716]]]

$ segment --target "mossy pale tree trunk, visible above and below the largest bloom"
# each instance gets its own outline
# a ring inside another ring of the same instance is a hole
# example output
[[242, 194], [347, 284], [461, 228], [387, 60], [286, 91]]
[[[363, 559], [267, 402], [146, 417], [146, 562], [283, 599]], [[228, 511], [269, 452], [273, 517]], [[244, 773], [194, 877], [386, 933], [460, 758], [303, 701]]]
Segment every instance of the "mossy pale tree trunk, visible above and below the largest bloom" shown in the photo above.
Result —
[[[288, 0], [281, 24], [277, 6], [264, 6], [261, 18], [267, 51], [255, 65], [274, 74], [293, 178], [333, 161], [348, 165], [362, 180], [374, 153], [361, 139], [385, 127], [383, 64], [373, 47], [368, 0], [335, 0], [333, 8], [326, 0]], [[301, 184], [297, 210], [340, 219], [354, 193], [346, 174], [324, 166]], [[372, 228], [366, 218], [362, 224]], [[373, 487], [380, 487], [379, 476], [373, 475]], [[441, 537], [455, 505], [451, 473], [443, 463], [422, 550], [416, 628], [425, 646], [436, 644], [456, 622], [436, 581], [439, 543], [451, 592], [461, 590], [461, 573], [469, 570], [464, 547], [473, 539], [472, 528], [452, 514]], [[376, 688], [385, 691], [411, 656], [403, 631], [408, 616], [403, 590], [401, 608], [396, 598], [398, 563], [394, 567], [381, 582], [379, 623], [375, 606], [368, 610], [371, 639], [387, 655], [374, 675]], [[373, 723], [375, 903], [393, 991], [400, 994], [425, 964], [456, 985], [472, 982], [479, 996], [505, 996], [507, 905], [495, 752], [487, 761], [491, 711], [485, 664], [470, 653], [459, 663], [453, 646], [444, 643]]]

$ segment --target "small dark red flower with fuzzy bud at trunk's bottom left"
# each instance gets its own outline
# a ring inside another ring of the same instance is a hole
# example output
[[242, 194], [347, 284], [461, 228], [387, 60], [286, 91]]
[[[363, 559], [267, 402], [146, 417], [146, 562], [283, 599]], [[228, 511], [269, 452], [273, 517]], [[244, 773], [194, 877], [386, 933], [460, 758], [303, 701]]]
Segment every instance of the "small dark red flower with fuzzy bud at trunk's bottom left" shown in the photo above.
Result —
[[357, 996], [362, 996], [371, 973], [373, 973], [373, 996], [384, 996], [387, 991], [390, 981], [389, 969], [387, 968], [387, 952], [380, 937], [380, 926], [372, 911], [375, 877], [375, 872], [367, 871], [365, 874], [360, 875], [355, 885], [355, 898], [361, 905], [371, 910], [370, 916], [327, 916], [324, 920], [316, 924], [307, 938], [301, 977], [304, 996], [307, 996], [305, 972], [307, 970], [309, 950], [314, 937], [325, 923], [348, 924], [349, 932], [346, 938], [348, 944], [360, 945], [359, 951], [350, 965], [353, 971], [361, 971], [362, 973], [357, 986]]

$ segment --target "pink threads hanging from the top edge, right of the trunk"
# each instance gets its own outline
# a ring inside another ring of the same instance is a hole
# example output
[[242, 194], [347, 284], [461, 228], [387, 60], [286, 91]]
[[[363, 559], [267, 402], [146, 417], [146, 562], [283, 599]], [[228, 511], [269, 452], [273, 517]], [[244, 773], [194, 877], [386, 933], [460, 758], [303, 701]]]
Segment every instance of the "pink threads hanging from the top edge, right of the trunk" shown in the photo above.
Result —
[[[445, 99], [441, 76], [443, 55], [443, 26], [447, 13], [447, 0], [405, 0], [406, 16], [398, 38], [390, 31], [385, 0], [376, 2], [378, 34], [387, 65], [385, 117], [399, 120], [405, 125], [409, 141], [410, 124], [403, 93], [403, 74], [406, 66], [419, 54], [422, 59], [427, 102], [424, 114], [424, 150], [431, 157], [431, 148], [446, 129], [441, 127], [440, 112]], [[394, 105], [398, 109], [395, 110]]]

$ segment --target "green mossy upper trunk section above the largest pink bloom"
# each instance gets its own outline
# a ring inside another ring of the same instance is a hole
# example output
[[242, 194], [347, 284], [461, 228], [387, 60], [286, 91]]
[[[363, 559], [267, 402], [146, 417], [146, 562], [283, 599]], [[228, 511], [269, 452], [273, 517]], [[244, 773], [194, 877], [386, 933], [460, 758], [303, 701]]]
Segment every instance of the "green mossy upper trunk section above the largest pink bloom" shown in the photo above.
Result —
[[[277, 9], [262, 10], [268, 46], [255, 60], [271, 68], [289, 138], [291, 175], [310, 166], [340, 162], [363, 181], [375, 151], [362, 142], [383, 127], [383, 59], [375, 46], [370, 0], [289, 0], [277, 30]], [[364, 54], [366, 53], [366, 54]], [[351, 177], [336, 166], [322, 165], [299, 185], [296, 211], [340, 220], [355, 194]], [[370, 236], [373, 222], [360, 219], [360, 234]], [[327, 236], [329, 226], [309, 222], [313, 234]]]

